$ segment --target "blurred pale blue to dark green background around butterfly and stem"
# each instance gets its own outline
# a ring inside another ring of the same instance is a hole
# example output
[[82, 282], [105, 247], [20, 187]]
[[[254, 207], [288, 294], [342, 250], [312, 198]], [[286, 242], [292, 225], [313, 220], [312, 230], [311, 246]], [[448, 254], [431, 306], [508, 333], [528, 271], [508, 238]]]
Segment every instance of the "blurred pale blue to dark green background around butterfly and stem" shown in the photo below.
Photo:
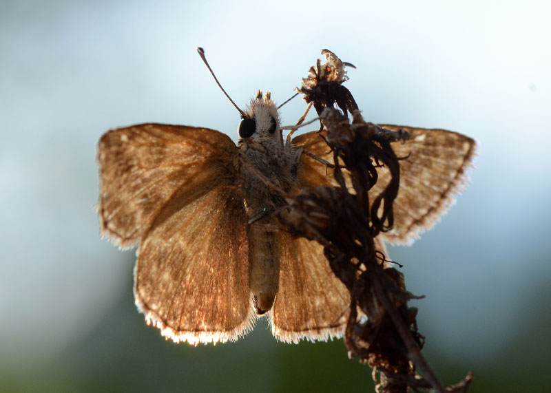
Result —
[[[265, 5], [264, 5], [265, 4]], [[289, 98], [328, 48], [374, 123], [479, 143], [472, 184], [391, 249], [425, 299], [424, 353], [471, 392], [551, 385], [551, 7], [546, 1], [1, 1], [0, 391], [371, 390], [342, 340], [287, 345], [265, 321], [193, 348], [147, 327], [134, 251], [98, 235], [96, 142], [142, 122], [219, 129], [257, 89]], [[282, 108], [294, 123], [306, 105]], [[315, 128], [315, 127], [313, 127]]]

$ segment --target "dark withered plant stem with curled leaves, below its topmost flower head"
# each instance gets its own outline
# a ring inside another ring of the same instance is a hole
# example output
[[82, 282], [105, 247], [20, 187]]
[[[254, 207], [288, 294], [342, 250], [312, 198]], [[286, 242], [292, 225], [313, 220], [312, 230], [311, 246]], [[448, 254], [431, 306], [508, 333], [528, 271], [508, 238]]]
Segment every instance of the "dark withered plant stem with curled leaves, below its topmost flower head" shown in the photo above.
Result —
[[[375, 248], [377, 235], [393, 226], [399, 189], [399, 158], [391, 142], [406, 140], [408, 134], [366, 123], [359, 111], [352, 114], [352, 123], [336, 109], [326, 108], [320, 116], [339, 186], [302, 191], [280, 214], [282, 224], [291, 233], [324, 245], [331, 270], [350, 292], [344, 342], [352, 357], [379, 374], [379, 383], [374, 377], [377, 392], [466, 391], [472, 374], [446, 387], [424, 359], [417, 309], [407, 306], [415, 296], [407, 292], [402, 273], [385, 266], [386, 258]], [[382, 166], [390, 181], [371, 195], [368, 191]]]

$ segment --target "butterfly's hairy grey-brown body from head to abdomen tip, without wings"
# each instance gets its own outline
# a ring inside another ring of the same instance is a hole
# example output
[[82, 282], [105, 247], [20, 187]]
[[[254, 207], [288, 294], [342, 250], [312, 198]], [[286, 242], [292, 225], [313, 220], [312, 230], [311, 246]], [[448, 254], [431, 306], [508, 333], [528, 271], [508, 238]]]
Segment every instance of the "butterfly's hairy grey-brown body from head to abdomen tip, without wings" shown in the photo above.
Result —
[[262, 97], [259, 92], [247, 115], [254, 119], [256, 130], [238, 142], [240, 182], [251, 223], [251, 293], [257, 315], [263, 315], [273, 306], [279, 288], [280, 239], [272, 213], [286, 204], [281, 191], [291, 191], [297, 181], [302, 149], [283, 142], [269, 93]]

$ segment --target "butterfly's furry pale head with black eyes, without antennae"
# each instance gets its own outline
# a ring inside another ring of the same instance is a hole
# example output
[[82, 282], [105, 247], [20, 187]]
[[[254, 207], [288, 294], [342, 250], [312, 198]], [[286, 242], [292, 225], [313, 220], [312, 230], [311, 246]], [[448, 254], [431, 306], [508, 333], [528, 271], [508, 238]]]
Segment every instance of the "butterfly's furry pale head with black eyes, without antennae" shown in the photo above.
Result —
[[279, 138], [280, 118], [278, 107], [270, 98], [270, 92], [262, 96], [262, 90], [258, 90], [256, 99], [251, 100], [245, 118], [238, 127], [239, 138], [242, 140], [258, 138]]

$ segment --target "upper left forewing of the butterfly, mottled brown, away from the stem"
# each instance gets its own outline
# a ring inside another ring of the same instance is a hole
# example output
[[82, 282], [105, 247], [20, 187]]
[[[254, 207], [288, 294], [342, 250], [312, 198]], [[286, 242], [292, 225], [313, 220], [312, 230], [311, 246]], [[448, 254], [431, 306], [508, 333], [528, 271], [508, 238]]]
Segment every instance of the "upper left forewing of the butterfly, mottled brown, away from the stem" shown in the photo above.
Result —
[[[114, 129], [98, 144], [101, 234], [134, 246], [180, 187], [201, 193], [231, 184], [236, 145], [212, 129], [142, 124]], [[208, 170], [205, 170], [207, 169]]]

